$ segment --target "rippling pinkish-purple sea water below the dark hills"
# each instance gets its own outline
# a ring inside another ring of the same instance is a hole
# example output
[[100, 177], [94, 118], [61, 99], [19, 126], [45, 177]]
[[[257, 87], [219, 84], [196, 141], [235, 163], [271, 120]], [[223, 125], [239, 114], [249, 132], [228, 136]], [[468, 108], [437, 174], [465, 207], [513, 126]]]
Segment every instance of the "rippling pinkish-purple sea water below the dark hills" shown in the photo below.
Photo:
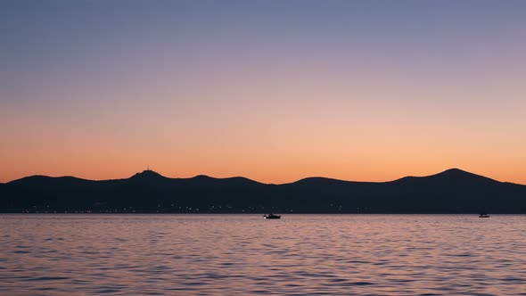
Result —
[[526, 216], [0, 215], [1, 295], [526, 295]]

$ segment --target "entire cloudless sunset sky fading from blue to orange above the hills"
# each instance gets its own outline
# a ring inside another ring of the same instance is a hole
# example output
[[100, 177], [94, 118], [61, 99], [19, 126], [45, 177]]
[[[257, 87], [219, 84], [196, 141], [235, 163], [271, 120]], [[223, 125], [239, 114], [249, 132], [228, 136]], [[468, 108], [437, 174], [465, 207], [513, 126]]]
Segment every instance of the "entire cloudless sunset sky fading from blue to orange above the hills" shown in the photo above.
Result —
[[0, 183], [526, 184], [526, 1], [0, 2]]

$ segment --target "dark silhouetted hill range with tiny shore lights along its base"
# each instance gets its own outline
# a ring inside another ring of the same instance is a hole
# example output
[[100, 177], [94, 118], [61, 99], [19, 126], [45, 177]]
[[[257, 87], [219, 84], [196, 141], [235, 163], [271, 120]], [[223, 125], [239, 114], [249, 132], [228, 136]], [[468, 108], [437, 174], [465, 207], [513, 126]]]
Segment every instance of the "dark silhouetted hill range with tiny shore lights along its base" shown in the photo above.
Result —
[[390, 182], [308, 177], [266, 185], [244, 177], [24, 177], [0, 184], [1, 212], [526, 213], [526, 185], [461, 169]]

